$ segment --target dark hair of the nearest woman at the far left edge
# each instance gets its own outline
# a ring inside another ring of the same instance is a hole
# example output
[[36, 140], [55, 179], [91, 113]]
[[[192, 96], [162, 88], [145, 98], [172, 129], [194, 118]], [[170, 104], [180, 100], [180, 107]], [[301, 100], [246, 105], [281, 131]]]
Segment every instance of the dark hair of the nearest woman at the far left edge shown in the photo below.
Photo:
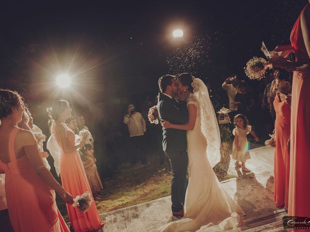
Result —
[[0, 118], [12, 114], [12, 107], [18, 106], [18, 102], [23, 104], [23, 99], [16, 91], [0, 89]]

